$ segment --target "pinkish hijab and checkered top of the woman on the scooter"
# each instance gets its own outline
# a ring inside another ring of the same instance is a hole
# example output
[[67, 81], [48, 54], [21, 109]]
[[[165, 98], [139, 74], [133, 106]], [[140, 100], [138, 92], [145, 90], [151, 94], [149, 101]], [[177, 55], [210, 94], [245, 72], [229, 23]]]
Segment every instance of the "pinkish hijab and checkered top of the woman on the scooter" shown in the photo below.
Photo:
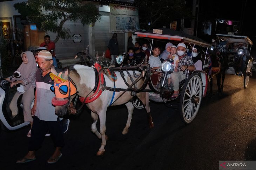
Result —
[[[26, 79], [28, 78], [29, 74], [36, 72], [36, 70], [38, 69], [36, 66], [35, 57], [33, 53], [31, 51], [25, 51], [21, 53], [21, 57], [23, 56], [24, 53], [27, 55], [28, 63], [27, 64], [25, 64], [24, 62], [21, 63], [20, 67], [17, 69], [17, 71], [20, 72], [21, 76], [16, 80]], [[33, 81], [35, 81], [35, 79], [24, 86], [25, 91], [28, 90], [30, 84]]]

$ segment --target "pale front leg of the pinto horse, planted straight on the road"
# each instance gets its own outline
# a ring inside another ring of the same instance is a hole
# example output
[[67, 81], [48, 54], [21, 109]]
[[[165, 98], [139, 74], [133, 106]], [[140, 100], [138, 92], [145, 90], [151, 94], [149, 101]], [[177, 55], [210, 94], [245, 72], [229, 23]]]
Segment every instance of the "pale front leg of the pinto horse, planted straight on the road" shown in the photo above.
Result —
[[99, 151], [97, 151], [97, 156], [103, 155], [105, 152], [105, 146], [107, 144], [106, 142], [106, 111], [107, 110], [102, 110], [98, 112], [98, 115], [100, 117], [100, 134], [101, 134], [101, 147]]

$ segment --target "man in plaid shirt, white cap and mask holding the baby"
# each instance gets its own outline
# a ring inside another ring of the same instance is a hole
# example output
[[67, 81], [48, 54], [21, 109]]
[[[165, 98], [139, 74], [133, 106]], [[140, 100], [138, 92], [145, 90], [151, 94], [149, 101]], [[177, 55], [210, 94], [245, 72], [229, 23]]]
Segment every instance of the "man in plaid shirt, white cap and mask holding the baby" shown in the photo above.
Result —
[[173, 83], [174, 93], [171, 96], [172, 98], [177, 98], [179, 96], [179, 83], [186, 79], [189, 71], [194, 71], [195, 66], [191, 57], [187, 56], [186, 45], [184, 43], [180, 43], [177, 45], [177, 54], [179, 57], [177, 72], [173, 72], [170, 74], [171, 82]]

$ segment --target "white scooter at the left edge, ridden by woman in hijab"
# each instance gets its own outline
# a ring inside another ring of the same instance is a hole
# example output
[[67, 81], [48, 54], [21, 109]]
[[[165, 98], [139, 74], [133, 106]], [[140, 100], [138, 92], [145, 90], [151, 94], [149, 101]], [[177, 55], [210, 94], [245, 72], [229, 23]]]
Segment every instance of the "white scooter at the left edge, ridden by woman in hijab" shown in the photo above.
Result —
[[[12, 80], [13, 77], [19, 78], [20, 76], [20, 72], [15, 71], [10, 80]], [[2, 129], [7, 128], [8, 130], [13, 131], [28, 125], [29, 122], [24, 122], [22, 95], [17, 101], [19, 109], [18, 116], [12, 119], [12, 111], [9, 109], [9, 104], [16, 93], [16, 89], [11, 88], [10, 84], [9, 81], [0, 77], [0, 124]], [[32, 104], [34, 104], [34, 102], [32, 102]]]

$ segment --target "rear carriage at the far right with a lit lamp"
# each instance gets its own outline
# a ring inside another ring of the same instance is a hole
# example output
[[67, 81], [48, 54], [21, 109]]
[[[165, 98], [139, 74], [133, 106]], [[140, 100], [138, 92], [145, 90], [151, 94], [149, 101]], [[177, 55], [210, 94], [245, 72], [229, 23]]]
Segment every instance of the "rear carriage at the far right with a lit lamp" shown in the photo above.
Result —
[[[234, 74], [244, 76], [244, 88], [247, 88], [252, 75], [253, 58], [250, 57], [252, 41], [247, 36], [225, 34], [216, 34], [216, 36], [219, 47], [224, 49], [221, 51], [227, 57], [228, 67], [234, 70]], [[225, 47], [223, 48], [221, 44], [225, 44]]]

